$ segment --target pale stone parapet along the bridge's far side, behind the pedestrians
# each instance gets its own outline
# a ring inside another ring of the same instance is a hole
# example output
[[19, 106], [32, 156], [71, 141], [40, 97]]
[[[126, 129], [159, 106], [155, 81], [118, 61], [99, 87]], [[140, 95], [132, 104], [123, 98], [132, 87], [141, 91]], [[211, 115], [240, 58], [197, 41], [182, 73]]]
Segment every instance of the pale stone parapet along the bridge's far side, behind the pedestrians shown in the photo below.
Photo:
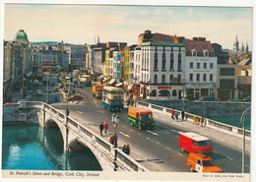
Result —
[[[155, 110], [163, 112], [163, 113], [170, 113], [171, 110], [172, 110], [172, 108], [163, 107], [163, 106], [152, 104], [152, 103], [145, 102], [145, 101], [142, 101], [142, 100], [138, 100], [138, 105], [148, 107], [148, 108], [152, 108], [152, 109], [155, 109]], [[175, 112], [178, 112], [179, 114], [181, 114], [180, 110], [176, 110], [176, 109], [173, 109], [173, 110]], [[188, 121], [193, 121], [194, 116], [196, 116], [197, 120], [200, 118], [199, 115], [185, 112], [185, 117], [187, 117]], [[243, 135], [242, 129], [240, 129], [238, 127], [227, 125], [227, 124], [224, 124], [224, 123], [221, 123], [221, 122], [209, 119], [209, 118], [205, 118], [205, 121], [206, 121], [206, 123], [205, 123], [206, 127], [213, 128], [213, 129], [216, 129], [216, 130], [220, 130], [220, 131], [223, 131], [223, 132], [228, 133], [230, 135], [236, 135], [236, 136], [239, 136], [239, 137], [241, 137]], [[250, 138], [251, 132], [246, 130], [245, 131], [245, 136]]]

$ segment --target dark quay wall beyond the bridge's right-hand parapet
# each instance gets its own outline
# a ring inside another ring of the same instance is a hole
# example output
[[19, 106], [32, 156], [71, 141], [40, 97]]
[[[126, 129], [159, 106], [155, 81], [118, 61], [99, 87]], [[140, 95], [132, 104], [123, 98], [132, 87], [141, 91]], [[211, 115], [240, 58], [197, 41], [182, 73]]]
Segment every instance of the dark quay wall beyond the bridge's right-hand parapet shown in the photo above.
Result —
[[[143, 100], [163, 107], [182, 110], [182, 100]], [[250, 102], [184, 100], [184, 111], [205, 117], [241, 116]]]

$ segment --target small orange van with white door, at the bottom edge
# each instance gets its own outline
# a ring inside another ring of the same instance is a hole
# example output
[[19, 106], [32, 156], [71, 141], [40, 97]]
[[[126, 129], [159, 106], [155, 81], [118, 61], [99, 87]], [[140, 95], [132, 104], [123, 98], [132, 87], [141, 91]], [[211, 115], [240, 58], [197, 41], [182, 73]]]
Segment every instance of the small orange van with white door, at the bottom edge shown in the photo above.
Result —
[[213, 158], [199, 152], [189, 153], [187, 165], [190, 167], [191, 172], [224, 172], [223, 169], [216, 165]]

